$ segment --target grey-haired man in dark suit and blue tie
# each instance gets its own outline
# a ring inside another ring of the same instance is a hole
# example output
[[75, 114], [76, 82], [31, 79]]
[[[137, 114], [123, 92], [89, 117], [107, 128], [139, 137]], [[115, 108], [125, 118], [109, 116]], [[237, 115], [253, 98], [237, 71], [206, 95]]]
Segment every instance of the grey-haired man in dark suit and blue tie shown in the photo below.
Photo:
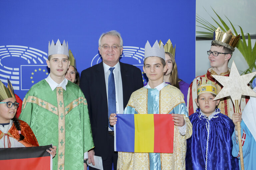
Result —
[[[109, 125], [111, 113], [122, 114], [131, 94], [143, 87], [139, 68], [119, 61], [123, 40], [117, 31], [103, 33], [99, 39], [99, 52], [103, 62], [81, 73], [80, 88], [88, 103], [95, 148], [88, 152], [89, 163], [93, 155], [101, 156], [103, 169], [117, 167], [117, 152], [114, 152], [114, 131]], [[90, 169], [94, 169], [89, 167]]]

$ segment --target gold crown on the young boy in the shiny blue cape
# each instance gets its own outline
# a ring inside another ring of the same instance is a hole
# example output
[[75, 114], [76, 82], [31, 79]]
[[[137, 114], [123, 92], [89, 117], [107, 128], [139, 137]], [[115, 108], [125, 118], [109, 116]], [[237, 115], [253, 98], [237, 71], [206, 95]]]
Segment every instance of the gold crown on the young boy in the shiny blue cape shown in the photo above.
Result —
[[210, 80], [206, 80], [205, 77], [197, 82], [197, 96], [201, 93], [212, 93], [217, 95], [217, 84]]

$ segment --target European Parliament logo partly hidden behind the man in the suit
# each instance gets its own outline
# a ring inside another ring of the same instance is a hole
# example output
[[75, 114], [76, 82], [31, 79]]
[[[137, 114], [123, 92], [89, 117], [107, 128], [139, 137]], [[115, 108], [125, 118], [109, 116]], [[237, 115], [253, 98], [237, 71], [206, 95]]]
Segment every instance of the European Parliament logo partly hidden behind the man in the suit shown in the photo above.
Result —
[[[120, 61], [128, 64], [132, 64], [141, 70], [144, 85], [148, 82], [146, 74], [143, 72], [144, 63], [144, 48], [136, 46], [123, 46], [123, 54], [120, 56]], [[101, 56], [95, 55], [91, 61], [91, 66], [100, 63]]]

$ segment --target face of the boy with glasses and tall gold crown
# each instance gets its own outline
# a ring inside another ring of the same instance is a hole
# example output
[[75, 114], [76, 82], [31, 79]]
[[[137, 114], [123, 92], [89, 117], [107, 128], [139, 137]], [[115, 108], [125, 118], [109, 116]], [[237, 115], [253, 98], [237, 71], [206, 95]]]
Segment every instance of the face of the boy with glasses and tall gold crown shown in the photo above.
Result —
[[[225, 53], [222, 46], [212, 45], [210, 51]], [[208, 58], [212, 67], [227, 67], [228, 60], [231, 58], [231, 54], [219, 54], [218, 56], [213, 56], [213, 54], [211, 53], [211, 55], [209, 55]]]

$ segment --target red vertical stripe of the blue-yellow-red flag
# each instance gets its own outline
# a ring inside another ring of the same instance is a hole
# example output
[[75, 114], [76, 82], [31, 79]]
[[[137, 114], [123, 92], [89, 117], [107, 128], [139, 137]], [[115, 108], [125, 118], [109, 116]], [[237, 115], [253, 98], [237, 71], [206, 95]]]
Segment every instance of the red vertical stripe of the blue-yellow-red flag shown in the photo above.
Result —
[[173, 153], [174, 122], [170, 114], [154, 114], [154, 152]]

